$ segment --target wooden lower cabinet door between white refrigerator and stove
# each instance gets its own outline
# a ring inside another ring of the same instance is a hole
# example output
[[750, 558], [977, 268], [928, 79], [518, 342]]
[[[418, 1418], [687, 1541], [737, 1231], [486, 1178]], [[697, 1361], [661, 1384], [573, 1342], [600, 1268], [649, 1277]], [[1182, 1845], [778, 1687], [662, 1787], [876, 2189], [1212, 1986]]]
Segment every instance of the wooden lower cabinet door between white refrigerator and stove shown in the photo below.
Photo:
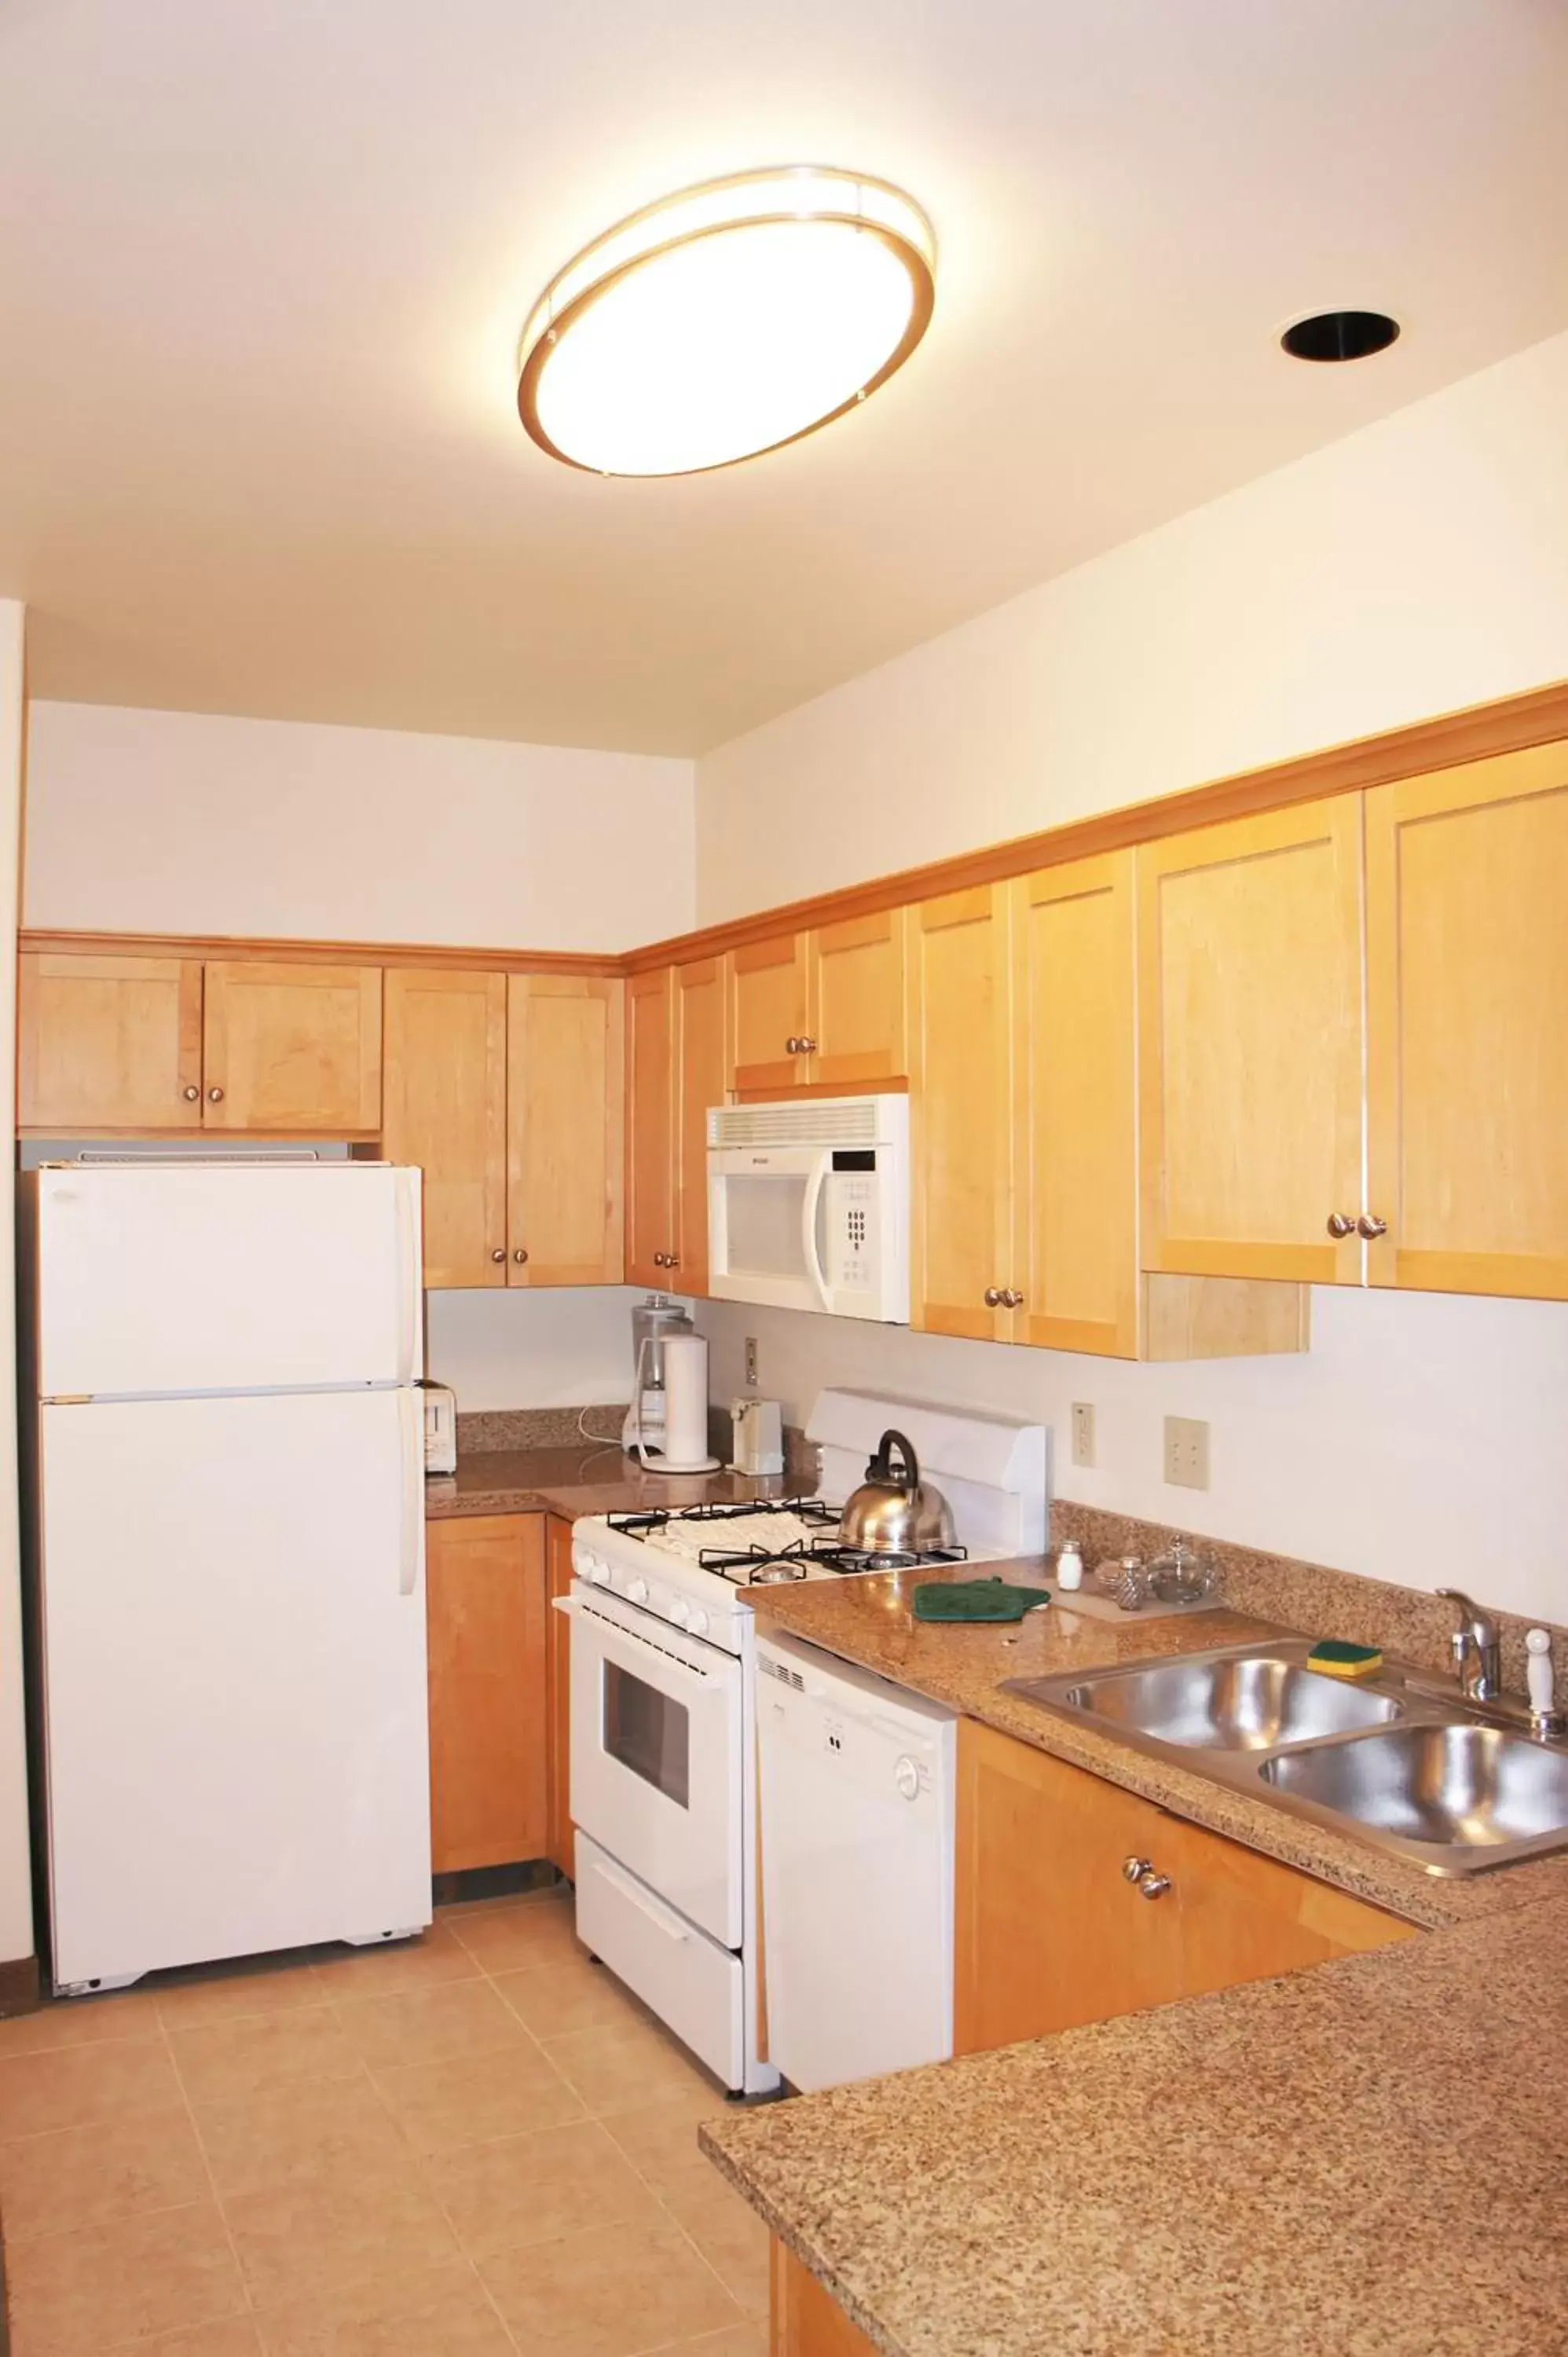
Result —
[[427, 1530], [431, 1871], [545, 1857], [545, 1518]]

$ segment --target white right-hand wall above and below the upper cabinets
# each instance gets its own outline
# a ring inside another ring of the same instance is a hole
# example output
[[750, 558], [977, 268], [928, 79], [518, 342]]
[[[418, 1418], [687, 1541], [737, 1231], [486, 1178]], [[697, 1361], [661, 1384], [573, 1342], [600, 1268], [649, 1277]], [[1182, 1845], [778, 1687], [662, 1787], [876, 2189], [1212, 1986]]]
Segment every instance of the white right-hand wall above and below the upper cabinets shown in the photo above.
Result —
[[[1568, 674], [1568, 337], [1540, 344], [698, 764], [719, 919]], [[1566, 1146], [1568, 1150], [1568, 1146]], [[1568, 1622], [1568, 1306], [1313, 1296], [1306, 1358], [1125, 1367], [707, 1306], [714, 1398], [762, 1339], [828, 1381], [1061, 1435], [1059, 1494]], [[1099, 1464], [1066, 1464], [1092, 1400]], [[1212, 1487], [1160, 1478], [1165, 1414]]]

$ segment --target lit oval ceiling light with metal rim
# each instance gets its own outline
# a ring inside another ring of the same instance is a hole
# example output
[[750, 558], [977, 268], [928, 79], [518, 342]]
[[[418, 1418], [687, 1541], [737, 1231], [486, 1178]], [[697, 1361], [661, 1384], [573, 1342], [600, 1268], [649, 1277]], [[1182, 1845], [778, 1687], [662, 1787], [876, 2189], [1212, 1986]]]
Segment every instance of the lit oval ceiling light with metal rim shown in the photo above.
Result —
[[936, 240], [882, 179], [797, 165], [634, 212], [559, 271], [523, 328], [516, 408], [594, 474], [703, 474], [865, 401], [913, 354]]

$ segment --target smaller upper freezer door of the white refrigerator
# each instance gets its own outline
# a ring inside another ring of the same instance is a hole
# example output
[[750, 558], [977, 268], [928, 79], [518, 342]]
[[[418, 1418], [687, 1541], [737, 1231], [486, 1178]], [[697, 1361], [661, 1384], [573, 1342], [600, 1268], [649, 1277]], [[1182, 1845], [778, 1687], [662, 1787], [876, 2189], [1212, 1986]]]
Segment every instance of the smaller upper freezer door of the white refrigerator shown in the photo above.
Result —
[[38, 1174], [38, 1391], [134, 1398], [424, 1372], [420, 1171], [384, 1162]]

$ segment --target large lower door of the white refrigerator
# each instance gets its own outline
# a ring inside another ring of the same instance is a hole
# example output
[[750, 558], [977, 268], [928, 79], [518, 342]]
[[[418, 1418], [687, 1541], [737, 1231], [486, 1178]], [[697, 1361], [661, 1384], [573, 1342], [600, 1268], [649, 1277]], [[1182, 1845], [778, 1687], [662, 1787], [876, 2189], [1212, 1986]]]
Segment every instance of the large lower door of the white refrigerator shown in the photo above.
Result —
[[57, 1987], [429, 1923], [410, 1398], [45, 1407]]

